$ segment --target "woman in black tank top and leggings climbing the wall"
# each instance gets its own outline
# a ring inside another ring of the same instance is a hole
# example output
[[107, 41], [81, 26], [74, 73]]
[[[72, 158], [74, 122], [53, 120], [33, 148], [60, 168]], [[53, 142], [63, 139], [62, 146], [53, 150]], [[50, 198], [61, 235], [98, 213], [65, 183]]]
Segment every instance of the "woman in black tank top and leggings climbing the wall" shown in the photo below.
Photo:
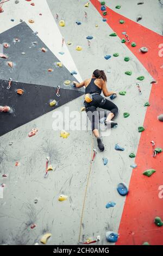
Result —
[[[77, 88], [85, 86], [85, 110], [91, 121], [92, 131], [97, 138], [97, 144], [100, 151], [104, 151], [104, 144], [102, 142], [102, 138], [99, 136], [99, 115], [97, 112], [97, 107], [110, 111], [108, 117], [104, 121], [106, 126], [114, 127], [117, 125], [117, 123], [111, 121], [111, 119], [117, 115], [118, 108], [114, 103], [105, 99], [105, 97], [110, 95], [116, 95], [116, 92], [108, 92], [106, 82], [107, 78], [105, 72], [98, 69], [93, 72], [91, 79], [86, 79], [82, 83], [78, 83], [76, 81], [73, 82]], [[105, 97], [101, 95], [102, 92]]]

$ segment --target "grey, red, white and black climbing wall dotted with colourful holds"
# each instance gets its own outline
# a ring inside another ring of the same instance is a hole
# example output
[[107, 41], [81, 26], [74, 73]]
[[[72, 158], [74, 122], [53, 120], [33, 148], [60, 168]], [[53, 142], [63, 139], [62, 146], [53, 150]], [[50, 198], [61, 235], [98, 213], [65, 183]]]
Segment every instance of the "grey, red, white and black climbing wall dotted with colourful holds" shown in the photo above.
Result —
[[[163, 2], [1, 8], [0, 243], [162, 245]], [[72, 81], [95, 69], [119, 109], [103, 153], [91, 131], [54, 129], [57, 111], [86, 117]]]

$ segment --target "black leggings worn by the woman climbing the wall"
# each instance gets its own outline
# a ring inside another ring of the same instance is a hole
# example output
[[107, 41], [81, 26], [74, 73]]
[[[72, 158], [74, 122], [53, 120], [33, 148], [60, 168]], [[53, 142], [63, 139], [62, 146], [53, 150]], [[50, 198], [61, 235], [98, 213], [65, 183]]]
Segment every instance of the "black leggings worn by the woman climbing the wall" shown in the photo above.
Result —
[[91, 127], [93, 130], [99, 129], [99, 114], [97, 111], [97, 107], [109, 110], [111, 113], [114, 114], [114, 116], [118, 113], [117, 106], [112, 103], [110, 100], [105, 99], [101, 95], [93, 95], [93, 100], [90, 103], [84, 103], [86, 108], [87, 116], [89, 117], [91, 121]]

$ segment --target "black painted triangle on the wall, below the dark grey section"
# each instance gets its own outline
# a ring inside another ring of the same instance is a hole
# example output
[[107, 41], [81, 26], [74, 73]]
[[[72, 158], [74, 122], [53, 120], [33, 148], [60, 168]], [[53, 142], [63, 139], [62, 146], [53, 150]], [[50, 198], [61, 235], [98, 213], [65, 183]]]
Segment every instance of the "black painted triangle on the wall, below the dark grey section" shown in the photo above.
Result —
[[[58, 97], [57, 88], [49, 86], [12, 81], [10, 89], [7, 89], [8, 81], [0, 80], [0, 84], [0, 105], [10, 106], [13, 111], [0, 112], [0, 136], [84, 94], [78, 90], [60, 88]], [[17, 89], [23, 89], [23, 95], [18, 95]], [[54, 99], [57, 105], [51, 107], [49, 102]]]

